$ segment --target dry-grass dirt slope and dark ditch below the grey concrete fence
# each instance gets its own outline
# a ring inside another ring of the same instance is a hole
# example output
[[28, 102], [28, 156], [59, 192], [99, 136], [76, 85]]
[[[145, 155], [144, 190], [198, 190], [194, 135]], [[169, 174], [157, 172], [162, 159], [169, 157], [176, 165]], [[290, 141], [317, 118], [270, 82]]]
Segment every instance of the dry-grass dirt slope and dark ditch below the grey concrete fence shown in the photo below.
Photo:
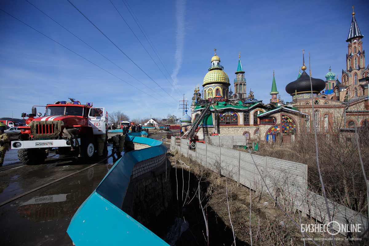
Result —
[[[251, 191], [250, 203], [247, 187], [238, 186], [235, 181], [208, 171], [178, 153], [167, 156], [173, 167], [173, 214], [189, 222], [189, 229], [177, 241], [177, 246], [251, 245], [251, 238], [252, 245], [304, 245], [300, 229], [275, 205], [269, 194]], [[297, 212], [290, 216], [300, 225]], [[302, 217], [301, 223], [316, 224], [307, 217]], [[327, 242], [330, 239], [330, 235], [309, 235], [326, 237]], [[321, 245], [323, 240], [317, 243]], [[306, 242], [306, 245], [314, 244]]]

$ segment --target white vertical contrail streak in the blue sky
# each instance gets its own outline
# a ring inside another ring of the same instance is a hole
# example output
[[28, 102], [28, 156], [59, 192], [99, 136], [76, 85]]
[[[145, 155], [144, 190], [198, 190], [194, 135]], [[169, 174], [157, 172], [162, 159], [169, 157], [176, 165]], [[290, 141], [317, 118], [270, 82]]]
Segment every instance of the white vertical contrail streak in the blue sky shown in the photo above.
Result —
[[177, 0], [176, 8], [177, 8], [177, 37], [176, 37], [176, 53], [174, 55], [175, 58], [175, 67], [173, 69], [172, 78], [174, 82], [177, 82], [177, 74], [182, 65], [182, 56], [183, 56], [183, 44], [184, 44], [184, 10], [185, 10], [186, 0]]

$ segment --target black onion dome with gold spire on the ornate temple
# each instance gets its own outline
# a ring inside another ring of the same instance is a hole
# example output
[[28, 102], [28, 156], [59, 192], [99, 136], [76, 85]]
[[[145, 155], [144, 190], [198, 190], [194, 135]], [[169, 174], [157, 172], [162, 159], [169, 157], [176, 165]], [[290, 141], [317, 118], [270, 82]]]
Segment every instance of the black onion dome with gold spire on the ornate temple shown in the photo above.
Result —
[[[322, 79], [314, 79], [313, 77], [311, 77], [311, 84], [313, 85], [313, 91], [321, 91], [325, 88], [325, 82]], [[305, 71], [297, 80], [287, 84], [286, 92], [288, 94], [294, 94], [295, 90], [297, 93], [311, 91], [310, 77]]]

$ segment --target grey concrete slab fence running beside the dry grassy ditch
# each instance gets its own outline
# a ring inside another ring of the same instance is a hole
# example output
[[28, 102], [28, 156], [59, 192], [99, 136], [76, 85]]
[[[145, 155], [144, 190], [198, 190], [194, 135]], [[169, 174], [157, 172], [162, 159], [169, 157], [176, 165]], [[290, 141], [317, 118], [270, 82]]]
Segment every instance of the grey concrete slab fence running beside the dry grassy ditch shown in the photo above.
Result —
[[[307, 190], [306, 164], [231, 149], [234, 145], [246, 145], [245, 136], [209, 136], [205, 142], [196, 142], [196, 151], [193, 151], [189, 149], [188, 139], [181, 139], [177, 145], [172, 137], [170, 150], [177, 150], [209, 170], [254, 191], [266, 192], [268, 186], [283, 207], [292, 209], [290, 212], [299, 209], [303, 216], [311, 216], [321, 223], [328, 223], [324, 198]], [[328, 204], [334, 221], [339, 224], [361, 224], [361, 232], [368, 228], [368, 217], [334, 201], [329, 200]], [[346, 232], [338, 229], [337, 223], [333, 224], [336, 231], [346, 235]]]

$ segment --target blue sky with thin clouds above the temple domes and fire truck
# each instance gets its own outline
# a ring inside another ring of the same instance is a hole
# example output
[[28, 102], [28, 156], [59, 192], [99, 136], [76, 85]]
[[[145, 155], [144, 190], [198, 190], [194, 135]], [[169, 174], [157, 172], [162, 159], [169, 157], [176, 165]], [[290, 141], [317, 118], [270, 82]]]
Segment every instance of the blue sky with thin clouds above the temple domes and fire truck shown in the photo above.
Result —
[[325, 80], [331, 66], [341, 80], [353, 5], [369, 49], [367, 0], [69, 1], [0, 0], [1, 10], [30, 26], [0, 11], [0, 117], [68, 98], [131, 118], [180, 117], [179, 100], [184, 94], [191, 103], [202, 88], [214, 48], [232, 91], [241, 52], [247, 91], [268, 103], [275, 70], [277, 90], [291, 101], [284, 88], [297, 79], [301, 49], [308, 69], [310, 52], [313, 77]]

